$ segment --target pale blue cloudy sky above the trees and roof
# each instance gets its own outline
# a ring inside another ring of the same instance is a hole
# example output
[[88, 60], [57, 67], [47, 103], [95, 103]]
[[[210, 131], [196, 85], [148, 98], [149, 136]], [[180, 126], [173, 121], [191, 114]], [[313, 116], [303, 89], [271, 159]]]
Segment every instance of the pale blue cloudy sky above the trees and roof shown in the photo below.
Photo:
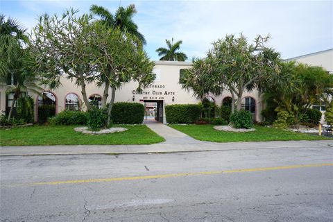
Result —
[[28, 31], [39, 15], [61, 15], [67, 8], [89, 12], [92, 4], [115, 12], [135, 4], [133, 18], [146, 38], [145, 50], [159, 60], [156, 49], [165, 40], [182, 40], [180, 51], [203, 58], [212, 42], [225, 35], [243, 33], [252, 42], [256, 35], [271, 35], [268, 46], [282, 58], [293, 58], [333, 48], [332, 1], [6, 1], [0, 12], [17, 19]]

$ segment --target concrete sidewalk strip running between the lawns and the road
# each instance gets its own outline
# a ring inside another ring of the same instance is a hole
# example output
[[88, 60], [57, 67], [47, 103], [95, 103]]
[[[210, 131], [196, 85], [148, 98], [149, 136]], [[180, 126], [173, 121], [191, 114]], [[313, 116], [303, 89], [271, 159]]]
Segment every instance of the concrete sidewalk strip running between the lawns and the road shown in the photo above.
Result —
[[2, 146], [0, 155], [78, 155], [126, 153], [174, 153], [198, 151], [230, 151], [265, 148], [317, 148], [332, 147], [332, 141], [278, 141], [278, 142], [197, 142], [196, 144], [152, 145], [76, 145], [76, 146]]

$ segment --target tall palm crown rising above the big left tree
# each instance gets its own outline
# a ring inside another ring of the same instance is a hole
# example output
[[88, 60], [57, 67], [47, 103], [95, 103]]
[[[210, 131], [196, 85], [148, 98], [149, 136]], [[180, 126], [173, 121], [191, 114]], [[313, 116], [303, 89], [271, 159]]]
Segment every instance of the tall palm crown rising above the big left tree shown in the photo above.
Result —
[[139, 33], [137, 24], [133, 22], [133, 16], [137, 13], [134, 4], [130, 4], [126, 8], [119, 7], [114, 15], [103, 6], [92, 5], [90, 11], [95, 15], [99, 15], [101, 17], [100, 21], [105, 26], [119, 28], [121, 31], [128, 32], [137, 37], [142, 44], [146, 44], [144, 35]]

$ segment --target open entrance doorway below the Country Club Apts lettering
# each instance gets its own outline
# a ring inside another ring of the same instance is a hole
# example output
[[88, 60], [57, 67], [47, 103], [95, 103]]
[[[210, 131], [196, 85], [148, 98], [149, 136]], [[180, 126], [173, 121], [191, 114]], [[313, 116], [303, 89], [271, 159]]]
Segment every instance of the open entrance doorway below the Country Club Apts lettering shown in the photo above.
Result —
[[163, 101], [144, 100], [144, 121], [163, 123]]

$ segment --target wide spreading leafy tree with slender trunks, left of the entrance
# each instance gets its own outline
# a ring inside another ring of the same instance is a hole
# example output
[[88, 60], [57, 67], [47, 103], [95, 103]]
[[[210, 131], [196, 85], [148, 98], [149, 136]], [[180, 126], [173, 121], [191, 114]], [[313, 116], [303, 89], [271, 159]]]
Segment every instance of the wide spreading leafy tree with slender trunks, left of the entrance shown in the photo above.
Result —
[[33, 37], [37, 68], [53, 87], [58, 87], [60, 78], [65, 76], [76, 80], [87, 110], [90, 104], [85, 85], [105, 81], [105, 91], [111, 89], [112, 93], [107, 121], [110, 126], [116, 89], [130, 80], [138, 82], [139, 91], [148, 86], [155, 78], [154, 63], [134, 35], [121, 31], [120, 27], [93, 22], [91, 15], [76, 17], [76, 12], [67, 10], [60, 18], [41, 17]]

